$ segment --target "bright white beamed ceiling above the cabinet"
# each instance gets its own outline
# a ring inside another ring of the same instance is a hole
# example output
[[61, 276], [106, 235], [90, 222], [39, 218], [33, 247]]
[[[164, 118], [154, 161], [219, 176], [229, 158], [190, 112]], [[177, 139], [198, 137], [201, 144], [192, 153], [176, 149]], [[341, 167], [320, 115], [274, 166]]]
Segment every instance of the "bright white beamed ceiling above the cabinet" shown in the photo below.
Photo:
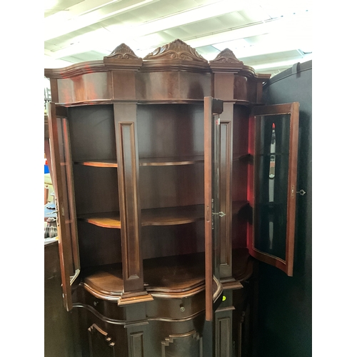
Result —
[[312, 0], [45, 0], [44, 66], [139, 57], [181, 39], [205, 59], [233, 51], [258, 73], [312, 59]]

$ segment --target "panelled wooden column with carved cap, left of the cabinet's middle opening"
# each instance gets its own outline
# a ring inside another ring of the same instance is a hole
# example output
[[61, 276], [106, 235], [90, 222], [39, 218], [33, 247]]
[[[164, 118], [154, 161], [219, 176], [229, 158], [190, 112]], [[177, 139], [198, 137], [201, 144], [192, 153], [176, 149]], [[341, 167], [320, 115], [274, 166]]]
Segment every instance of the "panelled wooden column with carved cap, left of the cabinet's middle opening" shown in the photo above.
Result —
[[141, 208], [139, 198], [139, 152], [136, 123], [136, 73], [142, 59], [125, 44], [104, 57], [111, 69], [114, 104], [116, 161], [118, 164], [121, 260], [124, 291], [118, 304], [152, 300], [144, 289], [141, 254]]

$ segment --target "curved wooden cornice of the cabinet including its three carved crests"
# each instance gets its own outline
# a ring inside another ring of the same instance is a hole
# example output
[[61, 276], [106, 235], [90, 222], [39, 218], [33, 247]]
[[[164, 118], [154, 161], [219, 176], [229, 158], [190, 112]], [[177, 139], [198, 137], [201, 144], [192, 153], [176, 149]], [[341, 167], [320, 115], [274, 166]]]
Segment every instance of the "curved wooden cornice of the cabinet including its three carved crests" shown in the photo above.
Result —
[[[229, 49], [208, 62], [183, 41], [159, 47], [144, 59], [121, 44], [101, 61], [45, 69], [52, 101], [65, 106], [134, 103], [190, 103], [204, 96], [256, 104], [268, 74], [236, 59]], [[224, 89], [223, 91], [221, 89]]]

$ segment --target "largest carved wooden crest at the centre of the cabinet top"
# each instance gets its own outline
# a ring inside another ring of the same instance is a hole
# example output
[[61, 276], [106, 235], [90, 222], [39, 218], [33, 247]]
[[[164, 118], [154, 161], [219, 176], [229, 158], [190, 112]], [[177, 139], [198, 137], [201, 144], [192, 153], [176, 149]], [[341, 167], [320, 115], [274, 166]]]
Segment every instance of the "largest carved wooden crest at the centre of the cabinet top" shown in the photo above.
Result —
[[196, 49], [185, 44], [185, 42], [180, 39], [170, 42], [164, 46], [158, 47], [155, 51], [151, 52], [144, 57], [144, 60], [155, 60], [155, 59], [181, 59], [183, 61], [199, 61], [205, 64], [208, 63]]

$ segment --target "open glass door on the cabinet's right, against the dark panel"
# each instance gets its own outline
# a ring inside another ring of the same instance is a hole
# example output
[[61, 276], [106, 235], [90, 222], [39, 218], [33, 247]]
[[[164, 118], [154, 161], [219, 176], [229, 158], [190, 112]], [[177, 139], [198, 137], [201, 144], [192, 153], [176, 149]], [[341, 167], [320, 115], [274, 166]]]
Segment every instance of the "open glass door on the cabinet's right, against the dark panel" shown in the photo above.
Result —
[[251, 256], [293, 275], [298, 158], [298, 103], [253, 109], [250, 150]]

